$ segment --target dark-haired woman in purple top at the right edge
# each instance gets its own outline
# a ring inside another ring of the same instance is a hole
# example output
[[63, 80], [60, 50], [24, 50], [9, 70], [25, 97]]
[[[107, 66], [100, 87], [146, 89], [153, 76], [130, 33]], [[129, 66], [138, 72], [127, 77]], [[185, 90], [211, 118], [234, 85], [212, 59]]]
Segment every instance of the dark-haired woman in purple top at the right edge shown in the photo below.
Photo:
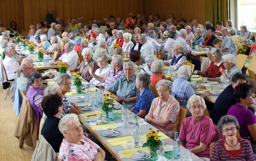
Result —
[[256, 153], [256, 119], [254, 113], [248, 109], [253, 105], [254, 94], [252, 86], [247, 83], [237, 85], [234, 89], [236, 104], [231, 106], [227, 115], [233, 115], [238, 120], [241, 138], [247, 139], [252, 145], [253, 153]]

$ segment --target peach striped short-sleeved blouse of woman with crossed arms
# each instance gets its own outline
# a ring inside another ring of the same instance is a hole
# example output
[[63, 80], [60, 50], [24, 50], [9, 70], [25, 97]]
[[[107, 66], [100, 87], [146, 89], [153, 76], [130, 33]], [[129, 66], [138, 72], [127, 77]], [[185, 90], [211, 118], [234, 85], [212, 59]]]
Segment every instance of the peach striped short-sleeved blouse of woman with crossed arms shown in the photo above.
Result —
[[148, 115], [157, 120], [170, 120], [171, 130], [167, 129], [167, 126], [160, 127], [154, 125], [154, 127], [158, 128], [168, 137], [174, 138], [174, 132], [177, 131], [180, 120], [180, 104], [172, 95], [165, 102], [161, 101], [159, 97], [153, 99]]

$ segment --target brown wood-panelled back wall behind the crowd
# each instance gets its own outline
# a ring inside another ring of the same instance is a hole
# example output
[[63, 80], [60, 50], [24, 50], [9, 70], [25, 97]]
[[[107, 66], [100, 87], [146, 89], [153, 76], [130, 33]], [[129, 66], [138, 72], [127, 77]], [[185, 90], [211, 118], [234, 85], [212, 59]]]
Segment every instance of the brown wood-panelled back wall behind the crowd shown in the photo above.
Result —
[[158, 13], [162, 21], [173, 13], [177, 22], [196, 18], [204, 24], [204, 4], [205, 0], [0, 0], [0, 22], [7, 27], [15, 21], [19, 31], [28, 31], [30, 24], [43, 22], [48, 8], [53, 8], [54, 18], [60, 17], [64, 22], [80, 16], [86, 23], [91, 18], [102, 20], [110, 15], [126, 18], [132, 12], [145, 14], [146, 18]]

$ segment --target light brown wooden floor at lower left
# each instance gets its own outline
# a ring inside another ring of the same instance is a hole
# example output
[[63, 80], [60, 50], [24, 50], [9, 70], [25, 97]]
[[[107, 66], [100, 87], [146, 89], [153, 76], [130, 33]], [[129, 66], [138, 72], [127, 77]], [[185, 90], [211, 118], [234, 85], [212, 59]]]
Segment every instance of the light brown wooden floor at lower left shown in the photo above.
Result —
[[10, 96], [4, 97], [7, 89], [0, 86], [0, 160], [1, 161], [30, 161], [34, 149], [24, 144], [24, 149], [19, 149], [18, 139], [14, 137], [14, 130], [18, 116], [12, 109], [13, 102]]

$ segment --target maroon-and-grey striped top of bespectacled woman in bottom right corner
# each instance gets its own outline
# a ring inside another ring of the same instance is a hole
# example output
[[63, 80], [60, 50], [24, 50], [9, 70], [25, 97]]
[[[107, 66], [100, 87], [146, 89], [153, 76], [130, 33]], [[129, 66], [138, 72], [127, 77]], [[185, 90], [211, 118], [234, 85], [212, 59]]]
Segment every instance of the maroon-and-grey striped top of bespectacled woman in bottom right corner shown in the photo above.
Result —
[[241, 139], [241, 151], [238, 151], [238, 156], [233, 158], [226, 150], [224, 146], [224, 138], [216, 141], [213, 145], [212, 155], [210, 157], [210, 161], [222, 161], [222, 160], [236, 160], [236, 161], [254, 161], [255, 157], [252, 151], [252, 146], [250, 142], [246, 139]]

